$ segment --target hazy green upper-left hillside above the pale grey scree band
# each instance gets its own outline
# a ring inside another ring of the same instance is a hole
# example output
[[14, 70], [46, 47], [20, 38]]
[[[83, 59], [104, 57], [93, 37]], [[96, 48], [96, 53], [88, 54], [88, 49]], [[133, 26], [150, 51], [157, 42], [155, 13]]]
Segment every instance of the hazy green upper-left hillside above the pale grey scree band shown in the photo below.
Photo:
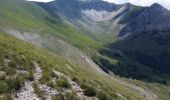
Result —
[[40, 29], [41, 34], [48, 33], [53, 37], [60, 37], [78, 48], [88, 51], [95, 50], [100, 44], [83, 33], [76, 31], [72, 26], [67, 25], [61, 19], [54, 19], [36, 4], [23, 0], [1, 0], [0, 19], [2, 25], [26, 31]]

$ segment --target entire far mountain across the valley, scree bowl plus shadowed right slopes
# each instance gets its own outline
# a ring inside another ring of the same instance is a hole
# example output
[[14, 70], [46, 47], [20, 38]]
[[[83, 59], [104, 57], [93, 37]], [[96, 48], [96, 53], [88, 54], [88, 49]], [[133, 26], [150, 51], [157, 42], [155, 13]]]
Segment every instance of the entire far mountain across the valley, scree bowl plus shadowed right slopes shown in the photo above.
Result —
[[[129, 60], [134, 59], [137, 60], [135, 61], [136, 63], [142, 64], [142, 66], [149, 66], [151, 69], [149, 69], [148, 73], [155, 72], [152, 71], [152, 68], [161, 73], [169, 73], [169, 56], [167, 55], [165, 57], [164, 54], [169, 54], [167, 52], [169, 44], [167, 33], [169, 32], [170, 12], [161, 5], [155, 3], [151, 7], [139, 7], [130, 3], [117, 5], [101, 0], [57, 0], [49, 3], [36, 4], [44, 8], [51, 15], [55, 16], [56, 14], [60, 16], [60, 18], [77, 27], [77, 29], [85, 35], [106, 45], [106, 49], [103, 47], [99, 48], [101, 54], [97, 55], [99, 58], [103, 59], [102, 56], [107, 56], [112, 59], [115, 58], [112, 53], [120, 51], [123, 55], [127, 56], [128, 59], [126, 60], [128, 61], [126, 62], [129, 63], [131, 62]], [[161, 36], [159, 36], [159, 34], [156, 35], [156, 33], [159, 32], [163, 32]], [[153, 41], [152, 39], [156, 40]], [[159, 43], [160, 41], [164, 41], [165, 43], [161, 45]], [[151, 45], [153, 45], [153, 47], [149, 48]], [[112, 56], [110, 53], [103, 55], [103, 52], [111, 52]], [[109, 71], [108, 66], [101, 64], [102, 61], [96, 59], [96, 55], [93, 55], [93, 58], [102, 69], [106, 72]], [[108, 59], [106, 59], [106, 61], [107, 60]], [[144, 77], [144, 80], [145, 77], [150, 76], [148, 74], [145, 75], [143, 72], [136, 72], [134, 75], [131, 71], [133, 72], [136, 69], [140, 69], [140, 67], [138, 68], [139, 65], [136, 65], [136, 63], [129, 65], [125, 63], [125, 61], [122, 61], [122, 59], [120, 61], [123, 64], [122, 66], [135, 67], [127, 67], [129, 68], [127, 70], [116, 67], [116, 70], [113, 70], [113, 66], [117, 65], [111, 64], [112, 72], [118, 73], [120, 71], [120, 74], [123, 76], [130, 76], [138, 79], [143, 79]], [[156, 66], [154, 62], [157, 62]], [[153, 79], [152, 76], [149, 77], [149, 80], [162, 82], [162, 79]]]

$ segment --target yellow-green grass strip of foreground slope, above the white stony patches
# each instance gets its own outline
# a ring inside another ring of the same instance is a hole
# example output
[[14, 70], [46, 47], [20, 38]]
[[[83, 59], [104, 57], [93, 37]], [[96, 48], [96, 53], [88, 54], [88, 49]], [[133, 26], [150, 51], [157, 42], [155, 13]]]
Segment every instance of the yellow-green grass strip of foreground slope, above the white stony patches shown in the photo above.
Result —
[[[131, 90], [119, 85], [117, 82], [113, 81], [111, 77], [105, 76], [95, 70], [87, 69], [87, 67], [82, 67], [78, 65], [74, 65], [64, 59], [54, 56], [53, 54], [49, 54], [46, 50], [42, 50], [40, 48], [34, 47], [25, 43], [23, 41], [17, 40], [11, 36], [8, 36], [1, 32], [0, 34], [0, 56], [1, 56], [1, 68], [4, 69], [6, 73], [9, 75], [16, 74], [15, 70], [17, 65], [20, 65], [23, 69], [32, 72], [33, 65], [32, 61], [39, 62], [43, 69], [43, 82], [48, 84], [50, 79], [52, 78], [52, 69], [61, 71], [68, 75], [71, 78], [76, 78], [80, 84], [84, 84], [86, 86], [92, 86], [96, 89], [96, 91], [105, 91], [110, 97], [110, 99], [121, 99], [116, 94], [121, 93], [123, 96], [127, 97], [130, 100], [140, 100], [142, 97], [138, 96], [136, 93]], [[13, 65], [5, 66], [3, 60], [10, 59], [13, 61]], [[70, 70], [65, 64], [69, 64], [74, 71]], [[15, 65], [15, 66], [14, 66]], [[1, 69], [2, 70], [2, 69]], [[10, 72], [12, 71], [12, 72]], [[90, 79], [89, 79], [90, 75]], [[19, 77], [19, 78], [18, 78]], [[19, 82], [23, 83], [23, 81], [30, 79], [31, 76], [20, 75], [17, 76], [17, 79], [20, 79]], [[7, 86], [0, 87], [2, 89], [7, 88], [6, 91], [2, 91], [2, 93], [9, 93], [10, 91], [15, 91], [16, 84], [14, 80], [6, 80], [1, 77], [0, 83], [5, 83]], [[18, 84], [18, 83], [17, 83]], [[20, 83], [19, 83], [20, 84]], [[12, 87], [8, 87], [12, 86]]]

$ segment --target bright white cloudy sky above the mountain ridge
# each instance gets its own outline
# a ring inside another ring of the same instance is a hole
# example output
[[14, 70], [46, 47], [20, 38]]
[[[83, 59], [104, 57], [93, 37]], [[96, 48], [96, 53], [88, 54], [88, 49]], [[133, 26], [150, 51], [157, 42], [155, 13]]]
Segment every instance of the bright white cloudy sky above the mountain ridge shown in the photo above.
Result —
[[[29, 1], [39, 1], [39, 2], [49, 2], [53, 0], [29, 0]], [[108, 2], [113, 2], [116, 4], [122, 4], [122, 3], [132, 3], [134, 5], [139, 5], [139, 6], [150, 6], [153, 3], [159, 3], [162, 6], [170, 9], [170, 0], [104, 0]]]

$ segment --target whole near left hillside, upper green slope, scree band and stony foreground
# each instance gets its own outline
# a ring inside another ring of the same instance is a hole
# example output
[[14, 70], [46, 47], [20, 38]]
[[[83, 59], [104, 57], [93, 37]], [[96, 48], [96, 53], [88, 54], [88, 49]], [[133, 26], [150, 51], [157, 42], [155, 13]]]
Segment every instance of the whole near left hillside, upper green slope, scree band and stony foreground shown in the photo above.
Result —
[[0, 8], [0, 99], [144, 99], [93, 63], [100, 44], [73, 25], [33, 2]]

